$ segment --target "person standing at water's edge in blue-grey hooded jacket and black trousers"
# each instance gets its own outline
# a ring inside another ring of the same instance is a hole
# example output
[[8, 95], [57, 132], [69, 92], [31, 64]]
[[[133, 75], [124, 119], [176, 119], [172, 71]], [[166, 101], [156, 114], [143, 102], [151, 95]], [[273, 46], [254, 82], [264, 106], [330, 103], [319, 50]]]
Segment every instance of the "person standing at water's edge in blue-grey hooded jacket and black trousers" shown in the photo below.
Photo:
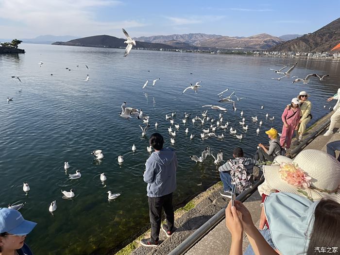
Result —
[[151, 238], [141, 239], [144, 246], [157, 247], [158, 236], [162, 221], [162, 208], [167, 219], [167, 224], [162, 225], [162, 230], [167, 237], [173, 231], [174, 213], [172, 208], [172, 192], [176, 189], [177, 157], [171, 148], [163, 149], [164, 139], [154, 133], [149, 140], [154, 152], [145, 163], [144, 182], [147, 185], [149, 201]]

